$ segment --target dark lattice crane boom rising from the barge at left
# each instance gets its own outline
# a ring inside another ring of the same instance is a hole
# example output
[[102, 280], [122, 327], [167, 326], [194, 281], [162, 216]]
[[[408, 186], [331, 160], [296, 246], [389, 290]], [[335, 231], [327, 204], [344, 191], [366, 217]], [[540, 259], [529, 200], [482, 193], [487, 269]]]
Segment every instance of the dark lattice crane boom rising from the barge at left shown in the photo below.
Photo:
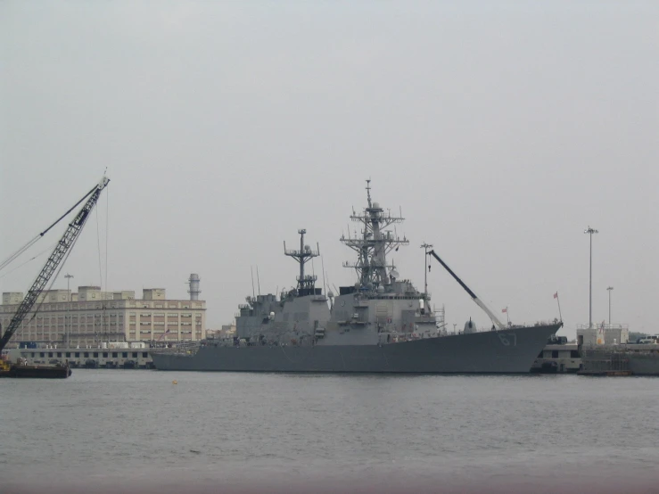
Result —
[[[37, 301], [39, 294], [44, 291], [45, 285], [48, 284], [48, 281], [62, 263], [62, 259], [64, 259], [66, 253], [70, 250], [73, 243], [75, 243], [78, 235], [80, 235], [82, 227], [85, 226], [86, 220], [89, 217], [89, 213], [94, 209], [96, 202], [98, 202], [99, 195], [101, 195], [101, 192], [109, 183], [110, 179], [103, 176], [101, 181], [86, 194], [85, 197], [89, 198], [85, 202], [85, 205], [78, 211], [78, 214], [73, 218], [73, 221], [70, 222], [64, 235], [62, 235], [62, 238], [55, 246], [53, 253], [48, 260], [45, 261], [44, 268], [41, 269], [37, 279], [29, 289], [28, 294], [16, 310], [16, 314], [12, 317], [11, 322], [7, 326], [7, 330], [2, 335], [2, 338], [0, 338], [0, 351], [4, 349], [7, 342], [9, 342], [13, 334], [19, 329], [23, 319], [28, 315], [29, 311]], [[2, 333], [1, 330], [0, 333]]]

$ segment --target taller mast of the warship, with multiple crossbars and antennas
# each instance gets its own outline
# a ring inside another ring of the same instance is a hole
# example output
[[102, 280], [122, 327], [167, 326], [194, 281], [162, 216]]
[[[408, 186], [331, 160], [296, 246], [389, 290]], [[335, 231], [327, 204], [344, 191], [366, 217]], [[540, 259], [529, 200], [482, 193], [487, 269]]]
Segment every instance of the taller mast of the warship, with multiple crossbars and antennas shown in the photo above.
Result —
[[367, 208], [363, 213], [357, 214], [352, 211], [350, 219], [362, 224], [361, 238], [348, 238], [343, 235], [341, 242], [350, 247], [358, 254], [355, 263], [345, 262], [345, 268], [354, 268], [358, 274], [358, 282], [363, 288], [377, 288], [391, 284], [392, 264], [387, 264], [386, 256], [392, 249], [398, 249], [400, 245], [408, 245], [408, 239], [402, 239], [391, 235], [388, 226], [402, 223], [404, 218], [391, 216], [386, 213], [380, 204], [371, 199], [371, 181], [367, 180]]

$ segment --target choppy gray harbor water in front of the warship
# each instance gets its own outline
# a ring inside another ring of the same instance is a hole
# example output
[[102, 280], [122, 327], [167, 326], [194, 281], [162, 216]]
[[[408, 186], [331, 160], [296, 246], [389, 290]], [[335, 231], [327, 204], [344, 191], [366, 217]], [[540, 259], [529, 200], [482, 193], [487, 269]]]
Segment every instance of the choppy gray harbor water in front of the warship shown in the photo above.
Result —
[[659, 490], [659, 379], [79, 369], [0, 393], [3, 492]]

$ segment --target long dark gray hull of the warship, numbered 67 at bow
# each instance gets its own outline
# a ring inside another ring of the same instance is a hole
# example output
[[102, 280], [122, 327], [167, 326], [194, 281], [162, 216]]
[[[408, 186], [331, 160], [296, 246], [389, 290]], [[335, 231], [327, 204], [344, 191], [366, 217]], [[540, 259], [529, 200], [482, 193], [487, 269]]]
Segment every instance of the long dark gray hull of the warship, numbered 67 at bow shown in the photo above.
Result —
[[153, 351], [164, 371], [526, 374], [561, 324], [462, 333], [383, 345], [213, 346]]

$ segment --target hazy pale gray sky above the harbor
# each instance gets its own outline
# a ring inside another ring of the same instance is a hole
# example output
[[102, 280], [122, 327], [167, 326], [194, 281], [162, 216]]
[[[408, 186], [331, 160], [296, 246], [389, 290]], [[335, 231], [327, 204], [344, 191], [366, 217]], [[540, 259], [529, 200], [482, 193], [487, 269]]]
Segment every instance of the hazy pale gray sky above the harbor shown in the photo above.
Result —
[[[186, 298], [199, 273], [217, 327], [250, 266], [261, 292], [295, 283], [282, 241], [301, 227], [331, 283], [354, 283], [339, 238], [371, 177], [420, 289], [433, 243], [515, 323], [557, 317], [558, 291], [573, 336], [590, 225], [593, 319], [613, 285], [613, 322], [658, 333], [657, 32], [651, 1], [3, 2], [0, 258], [107, 167], [65, 270], [100, 284], [107, 232], [103, 288]], [[46, 257], [0, 290], [26, 292]], [[489, 324], [437, 264], [429, 286], [449, 327]]]

